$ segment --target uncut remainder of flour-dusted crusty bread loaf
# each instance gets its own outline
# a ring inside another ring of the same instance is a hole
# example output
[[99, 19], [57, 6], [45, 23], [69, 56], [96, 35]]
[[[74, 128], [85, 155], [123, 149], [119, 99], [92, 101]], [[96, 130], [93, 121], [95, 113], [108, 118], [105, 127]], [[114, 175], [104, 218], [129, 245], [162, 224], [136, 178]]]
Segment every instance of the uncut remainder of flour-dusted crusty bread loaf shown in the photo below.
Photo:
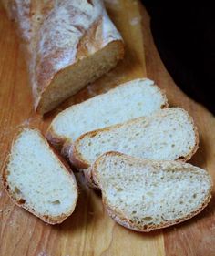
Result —
[[35, 109], [44, 114], [116, 66], [122, 38], [101, 0], [3, 0], [26, 48]]

